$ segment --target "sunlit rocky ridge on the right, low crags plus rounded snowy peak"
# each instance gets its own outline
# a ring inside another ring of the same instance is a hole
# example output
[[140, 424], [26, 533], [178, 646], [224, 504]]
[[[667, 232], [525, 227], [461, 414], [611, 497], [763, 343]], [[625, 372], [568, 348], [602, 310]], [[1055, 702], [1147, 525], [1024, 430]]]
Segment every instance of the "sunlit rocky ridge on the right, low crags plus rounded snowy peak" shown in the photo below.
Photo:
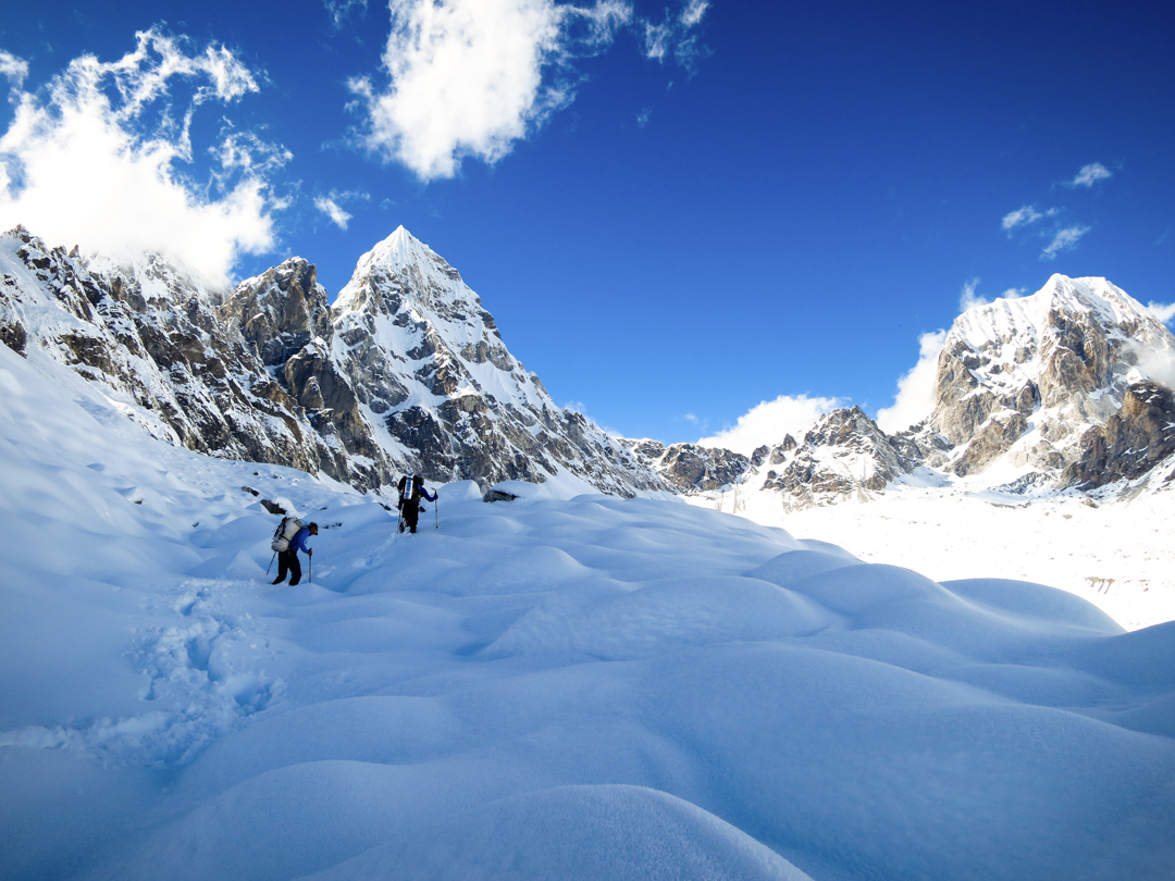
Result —
[[1173, 366], [1175, 336], [1141, 303], [1104, 278], [1054, 275], [955, 320], [934, 409], [906, 431], [886, 435], [853, 406], [751, 457], [627, 443], [679, 493], [718, 504], [736, 487], [805, 507], [960, 478], [1026, 497], [1129, 493], [1175, 480], [1175, 396], [1152, 378]]

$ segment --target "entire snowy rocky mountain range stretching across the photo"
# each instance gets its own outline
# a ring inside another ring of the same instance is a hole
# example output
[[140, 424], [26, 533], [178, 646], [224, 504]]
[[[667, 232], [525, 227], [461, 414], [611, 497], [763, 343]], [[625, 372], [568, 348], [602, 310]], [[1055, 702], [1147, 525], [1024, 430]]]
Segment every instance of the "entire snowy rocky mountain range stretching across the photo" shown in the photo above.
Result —
[[719, 504], [771, 493], [783, 510], [911, 483], [1030, 500], [1175, 482], [1175, 337], [1103, 278], [1054, 275], [960, 315], [916, 425], [889, 435], [841, 408], [750, 456], [610, 437], [558, 406], [459, 273], [403, 227], [334, 304], [301, 257], [224, 290], [157, 255], [66, 253], [18, 227], [0, 236], [0, 341], [98, 384], [161, 439], [380, 495], [405, 471]]

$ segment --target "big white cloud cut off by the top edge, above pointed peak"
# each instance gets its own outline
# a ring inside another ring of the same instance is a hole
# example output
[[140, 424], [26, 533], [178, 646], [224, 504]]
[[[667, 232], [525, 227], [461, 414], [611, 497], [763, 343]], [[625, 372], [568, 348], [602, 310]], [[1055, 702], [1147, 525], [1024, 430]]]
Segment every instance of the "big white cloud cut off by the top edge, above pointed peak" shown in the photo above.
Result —
[[[577, 59], [606, 49], [623, 28], [644, 29], [627, 0], [390, 0], [387, 85], [352, 79], [364, 146], [417, 177], [452, 177], [465, 157], [495, 163], [575, 100]], [[687, 0], [667, 16], [664, 52], [683, 48], [707, 8]], [[689, 22], [689, 23], [687, 23]], [[692, 54], [691, 54], [692, 53]], [[684, 61], [683, 61], [684, 63]]]

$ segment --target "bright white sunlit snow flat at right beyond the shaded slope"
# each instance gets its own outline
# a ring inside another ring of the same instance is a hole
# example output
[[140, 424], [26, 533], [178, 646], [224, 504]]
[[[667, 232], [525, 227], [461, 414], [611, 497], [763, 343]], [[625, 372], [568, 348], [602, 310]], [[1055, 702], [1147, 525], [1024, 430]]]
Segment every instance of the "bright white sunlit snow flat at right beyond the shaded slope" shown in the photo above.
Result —
[[966, 486], [901, 486], [865, 504], [791, 512], [777, 498], [748, 495], [743, 516], [838, 542], [868, 563], [908, 566], [938, 580], [1047, 584], [1093, 603], [1127, 630], [1175, 620], [1175, 491], [1092, 507], [1080, 498], [1025, 505]]

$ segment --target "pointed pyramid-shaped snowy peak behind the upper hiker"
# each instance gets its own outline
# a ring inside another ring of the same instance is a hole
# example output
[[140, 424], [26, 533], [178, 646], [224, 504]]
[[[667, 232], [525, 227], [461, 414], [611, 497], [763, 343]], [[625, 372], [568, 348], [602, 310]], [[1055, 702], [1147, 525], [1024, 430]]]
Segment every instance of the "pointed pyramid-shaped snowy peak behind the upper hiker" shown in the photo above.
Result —
[[559, 469], [606, 492], [666, 491], [624, 446], [557, 406], [510, 355], [461, 275], [403, 228], [360, 260], [331, 311], [330, 364], [387, 450], [434, 480], [542, 483]]

